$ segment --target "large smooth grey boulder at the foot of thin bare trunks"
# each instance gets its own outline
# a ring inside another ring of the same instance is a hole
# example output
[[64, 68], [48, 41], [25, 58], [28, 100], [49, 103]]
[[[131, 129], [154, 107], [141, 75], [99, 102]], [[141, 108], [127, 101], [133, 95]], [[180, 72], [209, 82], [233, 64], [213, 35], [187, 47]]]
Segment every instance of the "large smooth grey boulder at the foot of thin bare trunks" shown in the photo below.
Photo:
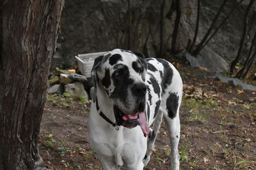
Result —
[[198, 57], [193, 57], [189, 53], [186, 53], [185, 57], [192, 67], [205, 67], [213, 73], [228, 70], [227, 62], [207, 46], [202, 49]]

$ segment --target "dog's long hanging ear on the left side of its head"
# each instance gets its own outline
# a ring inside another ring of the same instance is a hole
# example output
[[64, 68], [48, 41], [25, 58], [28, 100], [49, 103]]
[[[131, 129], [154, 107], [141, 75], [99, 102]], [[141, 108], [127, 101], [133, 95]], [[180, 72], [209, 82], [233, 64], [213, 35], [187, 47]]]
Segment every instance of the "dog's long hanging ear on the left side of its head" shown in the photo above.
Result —
[[94, 60], [94, 64], [92, 67], [91, 75], [92, 75], [93, 87], [94, 87], [93, 96], [92, 96], [93, 102], [96, 101], [96, 97], [97, 97], [97, 81], [98, 81], [97, 69], [100, 67], [102, 59], [103, 59], [103, 55], [100, 55], [99, 57], [97, 57]]

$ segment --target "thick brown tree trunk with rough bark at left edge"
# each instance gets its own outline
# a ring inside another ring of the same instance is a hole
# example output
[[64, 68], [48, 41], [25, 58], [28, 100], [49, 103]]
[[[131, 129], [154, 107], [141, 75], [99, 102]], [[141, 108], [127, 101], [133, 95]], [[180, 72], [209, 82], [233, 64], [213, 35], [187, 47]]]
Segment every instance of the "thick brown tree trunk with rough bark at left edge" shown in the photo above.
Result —
[[37, 145], [63, 3], [0, 3], [0, 169], [45, 169]]

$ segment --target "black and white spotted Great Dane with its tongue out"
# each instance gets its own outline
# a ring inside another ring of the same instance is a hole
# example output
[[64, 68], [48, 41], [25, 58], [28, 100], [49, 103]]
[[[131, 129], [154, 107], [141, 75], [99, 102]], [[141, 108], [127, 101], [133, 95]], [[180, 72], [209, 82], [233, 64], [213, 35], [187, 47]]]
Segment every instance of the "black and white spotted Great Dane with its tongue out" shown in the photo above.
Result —
[[147, 166], [163, 117], [170, 131], [170, 169], [179, 169], [182, 79], [177, 69], [163, 59], [115, 49], [95, 59], [92, 78], [89, 136], [104, 169]]

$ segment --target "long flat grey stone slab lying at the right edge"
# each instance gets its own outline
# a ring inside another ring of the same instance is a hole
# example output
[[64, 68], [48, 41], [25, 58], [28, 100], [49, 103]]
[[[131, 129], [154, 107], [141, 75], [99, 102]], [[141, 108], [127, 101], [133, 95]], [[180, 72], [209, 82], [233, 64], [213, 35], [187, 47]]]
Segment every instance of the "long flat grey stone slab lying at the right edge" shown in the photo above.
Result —
[[243, 90], [256, 91], [256, 87], [254, 85], [243, 83], [243, 81], [239, 80], [238, 78], [230, 78], [230, 77], [225, 77], [225, 76], [221, 76], [221, 75], [216, 75], [216, 76], [214, 76], [214, 78], [223, 83], [228, 83], [232, 87], [239, 86]]

